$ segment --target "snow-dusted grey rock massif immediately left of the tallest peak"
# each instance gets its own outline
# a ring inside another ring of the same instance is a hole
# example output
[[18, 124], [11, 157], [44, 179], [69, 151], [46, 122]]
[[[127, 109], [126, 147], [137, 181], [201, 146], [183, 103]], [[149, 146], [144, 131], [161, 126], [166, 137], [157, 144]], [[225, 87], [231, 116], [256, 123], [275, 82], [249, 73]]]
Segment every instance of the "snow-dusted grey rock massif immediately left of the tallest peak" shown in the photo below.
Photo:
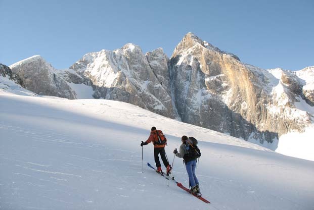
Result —
[[145, 56], [139, 46], [126, 44], [114, 51], [86, 54], [70, 69], [91, 80], [95, 97], [132, 103], [177, 118], [167, 81], [168, 63], [162, 49]]

